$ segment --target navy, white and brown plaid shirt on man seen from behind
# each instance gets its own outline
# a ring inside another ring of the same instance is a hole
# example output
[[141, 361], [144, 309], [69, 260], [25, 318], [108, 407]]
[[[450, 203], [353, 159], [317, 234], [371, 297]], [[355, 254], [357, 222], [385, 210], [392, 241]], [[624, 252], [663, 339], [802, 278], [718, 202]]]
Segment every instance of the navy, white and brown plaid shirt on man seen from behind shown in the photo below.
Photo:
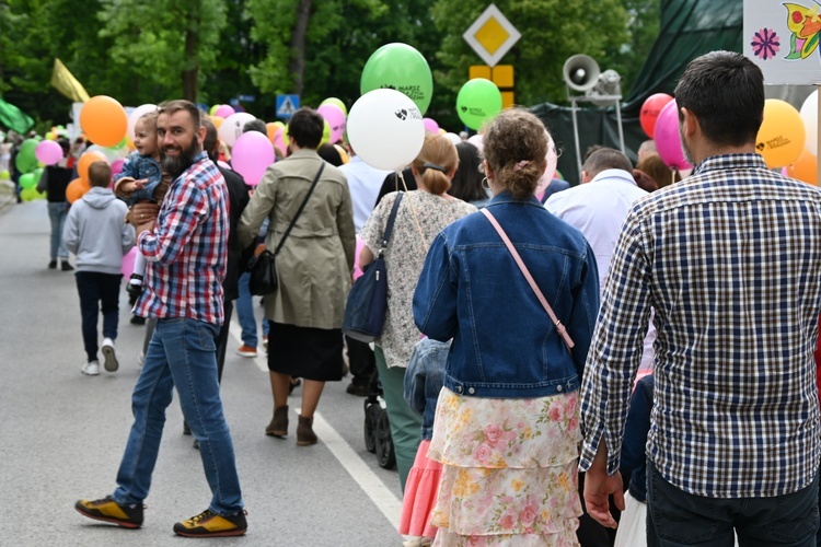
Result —
[[675, 487], [758, 498], [807, 487], [819, 466], [813, 349], [821, 190], [756, 154], [705, 160], [638, 201], [611, 265], [582, 380], [587, 470], [602, 435], [618, 468], [631, 385], [656, 310], [647, 454]]

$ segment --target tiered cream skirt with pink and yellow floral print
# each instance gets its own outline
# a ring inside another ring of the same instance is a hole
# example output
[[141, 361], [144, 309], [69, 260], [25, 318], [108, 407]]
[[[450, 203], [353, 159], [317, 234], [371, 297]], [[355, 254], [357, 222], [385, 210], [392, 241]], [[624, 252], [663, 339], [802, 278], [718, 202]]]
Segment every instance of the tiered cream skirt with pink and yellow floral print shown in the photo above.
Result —
[[428, 451], [442, 464], [433, 545], [578, 545], [580, 439], [577, 392], [499, 399], [442, 388]]

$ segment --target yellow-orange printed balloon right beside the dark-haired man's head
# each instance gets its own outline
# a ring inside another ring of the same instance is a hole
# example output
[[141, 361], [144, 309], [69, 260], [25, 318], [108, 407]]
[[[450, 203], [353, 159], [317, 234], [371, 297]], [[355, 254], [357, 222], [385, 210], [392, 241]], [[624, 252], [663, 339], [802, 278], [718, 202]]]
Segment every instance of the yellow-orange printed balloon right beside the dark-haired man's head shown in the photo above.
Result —
[[755, 151], [770, 168], [784, 167], [801, 155], [807, 133], [798, 110], [785, 101], [764, 102], [764, 121], [755, 138]]

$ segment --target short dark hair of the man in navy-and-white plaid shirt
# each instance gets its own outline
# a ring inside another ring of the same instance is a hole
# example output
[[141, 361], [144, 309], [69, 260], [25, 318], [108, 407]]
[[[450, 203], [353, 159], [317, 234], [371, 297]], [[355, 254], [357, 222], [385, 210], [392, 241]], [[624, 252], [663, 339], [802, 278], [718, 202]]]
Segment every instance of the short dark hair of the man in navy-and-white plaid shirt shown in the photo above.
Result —
[[712, 51], [696, 57], [675, 86], [681, 108], [698, 119], [704, 136], [719, 146], [755, 142], [764, 113], [764, 75], [741, 54]]

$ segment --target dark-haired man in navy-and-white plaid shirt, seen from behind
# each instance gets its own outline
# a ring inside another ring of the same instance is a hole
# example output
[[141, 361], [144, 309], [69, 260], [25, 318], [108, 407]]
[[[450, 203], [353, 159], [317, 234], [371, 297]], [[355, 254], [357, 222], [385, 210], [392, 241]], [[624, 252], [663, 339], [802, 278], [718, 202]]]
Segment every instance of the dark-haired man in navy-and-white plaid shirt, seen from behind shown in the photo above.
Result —
[[[615, 526], [618, 457], [650, 307], [648, 545], [816, 545], [821, 191], [755, 153], [761, 70], [714, 51], [675, 90], [693, 175], [639, 200], [582, 380], [588, 512]], [[763, 143], [773, 146], [774, 143]]]

